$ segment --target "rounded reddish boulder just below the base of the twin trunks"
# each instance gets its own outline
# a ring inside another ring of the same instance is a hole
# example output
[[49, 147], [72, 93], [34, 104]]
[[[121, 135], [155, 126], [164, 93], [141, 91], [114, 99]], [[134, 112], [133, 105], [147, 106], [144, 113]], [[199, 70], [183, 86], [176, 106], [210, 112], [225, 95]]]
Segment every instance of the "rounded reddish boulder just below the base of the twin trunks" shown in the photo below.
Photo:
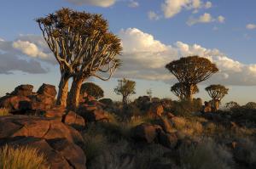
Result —
[[85, 127], [84, 118], [73, 111], [69, 111], [67, 115], [63, 117], [63, 122], [77, 130], [81, 130]]

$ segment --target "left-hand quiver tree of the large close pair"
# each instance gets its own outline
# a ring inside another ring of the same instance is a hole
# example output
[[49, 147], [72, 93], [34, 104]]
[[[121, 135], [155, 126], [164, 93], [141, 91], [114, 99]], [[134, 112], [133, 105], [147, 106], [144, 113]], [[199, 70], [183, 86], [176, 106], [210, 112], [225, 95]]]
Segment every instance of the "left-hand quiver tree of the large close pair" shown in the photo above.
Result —
[[[89, 18], [90, 14], [84, 14]], [[69, 8], [57, 10], [44, 18], [38, 18], [40, 30], [43, 32], [44, 40], [53, 52], [55, 59], [60, 65], [61, 81], [57, 104], [67, 105], [68, 80], [73, 75], [73, 66], [79, 62], [79, 13]]]

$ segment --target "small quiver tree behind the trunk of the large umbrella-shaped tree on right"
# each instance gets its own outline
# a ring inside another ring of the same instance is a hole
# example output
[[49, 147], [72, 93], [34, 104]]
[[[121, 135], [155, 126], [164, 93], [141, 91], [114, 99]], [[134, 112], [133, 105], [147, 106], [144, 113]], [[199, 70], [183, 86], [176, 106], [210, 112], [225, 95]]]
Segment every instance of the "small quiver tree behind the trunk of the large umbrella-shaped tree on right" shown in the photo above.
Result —
[[[171, 87], [171, 91], [172, 93], [174, 93], [180, 100], [186, 99], [186, 86], [183, 85], [183, 83], [181, 82], [177, 82], [175, 83], [172, 87]], [[199, 88], [195, 85], [192, 87], [192, 94], [195, 93], [199, 93]]]

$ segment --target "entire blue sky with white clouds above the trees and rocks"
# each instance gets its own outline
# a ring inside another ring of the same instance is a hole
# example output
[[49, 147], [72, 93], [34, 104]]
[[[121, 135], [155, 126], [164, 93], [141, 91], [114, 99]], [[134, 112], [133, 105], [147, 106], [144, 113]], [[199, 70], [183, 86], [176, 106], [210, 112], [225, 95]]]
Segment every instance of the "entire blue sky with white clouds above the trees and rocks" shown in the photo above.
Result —
[[[34, 19], [62, 7], [103, 14], [109, 21], [110, 30], [124, 45], [125, 65], [115, 77], [137, 81], [134, 97], [152, 88], [154, 96], [176, 99], [170, 92], [175, 80], [164, 65], [199, 54], [212, 59], [221, 71], [201, 84], [198, 97], [210, 99], [204, 85], [221, 83], [230, 87], [224, 102], [256, 101], [255, 0], [3, 0], [0, 95], [22, 83], [31, 83], [35, 89], [43, 82], [57, 87], [59, 70]], [[106, 97], [119, 99], [113, 93], [117, 79], [91, 81], [104, 88]]]

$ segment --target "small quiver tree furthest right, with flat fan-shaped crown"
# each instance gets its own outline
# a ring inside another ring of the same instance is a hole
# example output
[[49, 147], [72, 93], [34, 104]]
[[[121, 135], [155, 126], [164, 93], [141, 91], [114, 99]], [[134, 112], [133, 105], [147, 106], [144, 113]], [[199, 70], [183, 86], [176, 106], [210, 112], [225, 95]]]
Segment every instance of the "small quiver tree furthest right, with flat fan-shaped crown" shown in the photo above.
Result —
[[212, 104], [214, 110], [218, 110], [221, 99], [224, 98], [226, 94], [229, 92], [229, 88], [226, 88], [222, 85], [210, 85], [206, 87], [207, 93], [212, 98]]

